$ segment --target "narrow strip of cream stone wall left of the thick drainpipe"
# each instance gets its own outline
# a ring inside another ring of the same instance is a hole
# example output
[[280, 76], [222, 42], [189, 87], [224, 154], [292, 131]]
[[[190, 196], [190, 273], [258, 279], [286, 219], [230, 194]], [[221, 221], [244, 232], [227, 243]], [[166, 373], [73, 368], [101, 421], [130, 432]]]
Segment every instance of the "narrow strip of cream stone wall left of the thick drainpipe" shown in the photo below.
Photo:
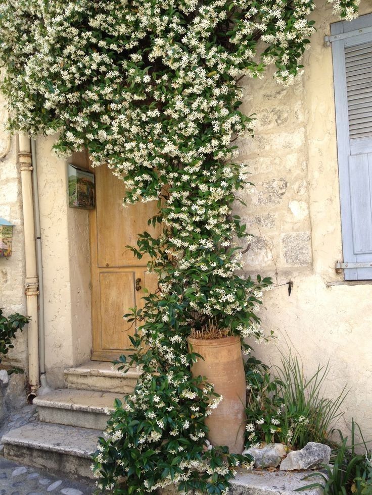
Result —
[[[25, 255], [22, 213], [22, 189], [17, 167], [17, 140], [5, 131], [6, 103], [0, 95], [0, 216], [14, 224], [13, 250], [9, 258], [0, 258], [0, 308], [10, 313], [27, 313], [25, 282]], [[27, 369], [27, 325], [17, 333], [14, 349], [10, 349], [2, 365]]]

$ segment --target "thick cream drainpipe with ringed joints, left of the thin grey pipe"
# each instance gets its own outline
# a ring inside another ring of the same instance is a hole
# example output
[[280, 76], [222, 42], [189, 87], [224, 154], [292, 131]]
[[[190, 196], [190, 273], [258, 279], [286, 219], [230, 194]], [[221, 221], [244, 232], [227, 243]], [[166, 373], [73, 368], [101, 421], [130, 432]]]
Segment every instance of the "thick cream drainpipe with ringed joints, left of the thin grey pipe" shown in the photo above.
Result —
[[31, 317], [28, 323], [28, 379], [30, 402], [36, 397], [39, 387], [39, 342], [37, 296], [38, 277], [36, 269], [35, 227], [32, 198], [32, 161], [30, 139], [24, 134], [19, 135], [18, 151], [19, 169], [22, 183], [23, 224], [25, 236], [26, 280], [25, 294], [27, 299], [27, 315]]

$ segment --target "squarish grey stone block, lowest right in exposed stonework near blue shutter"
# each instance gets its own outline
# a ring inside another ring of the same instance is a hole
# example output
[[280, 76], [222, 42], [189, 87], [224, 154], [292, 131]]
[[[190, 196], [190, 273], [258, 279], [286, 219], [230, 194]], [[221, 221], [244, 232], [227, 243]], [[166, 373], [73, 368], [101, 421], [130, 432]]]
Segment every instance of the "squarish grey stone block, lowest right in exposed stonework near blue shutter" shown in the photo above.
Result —
[[282, 254], [287, 266], [307, 266], [311, 264], [310, 232], [283, 234]]

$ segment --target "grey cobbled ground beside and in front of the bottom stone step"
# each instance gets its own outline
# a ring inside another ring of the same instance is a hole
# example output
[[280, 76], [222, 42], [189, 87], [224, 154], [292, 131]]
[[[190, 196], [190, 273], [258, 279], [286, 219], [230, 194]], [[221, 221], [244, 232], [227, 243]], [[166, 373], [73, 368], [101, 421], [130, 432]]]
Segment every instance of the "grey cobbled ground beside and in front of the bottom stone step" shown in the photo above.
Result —
[[[38, 421], [36, 406], [26, 404], [0, 427], [2, 436], [13, 428]], [[8, 461], [2, 456], [0, 443], [0, 495], [91, 495], [95, 482], [71, 481], [56, 473]]]

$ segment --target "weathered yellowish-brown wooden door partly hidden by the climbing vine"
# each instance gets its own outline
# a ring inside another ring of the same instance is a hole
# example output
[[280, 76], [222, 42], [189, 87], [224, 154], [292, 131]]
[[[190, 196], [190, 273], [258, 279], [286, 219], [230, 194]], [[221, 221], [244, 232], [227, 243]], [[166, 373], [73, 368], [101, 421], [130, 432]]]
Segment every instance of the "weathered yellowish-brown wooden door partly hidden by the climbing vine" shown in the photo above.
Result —
[[90, 214], [92, 359], [111, 361], [130, 349], [135, 327], [123, 319], [129, 308], [142, 307], [144, 288], [152, 292], [156, 278], [146, 273], [148, 258], [138, 260], [125, 246], [147, 225], [155, 202], [124, 208], [124, 183], [105, 166], [94, 169], [96, 208]]

